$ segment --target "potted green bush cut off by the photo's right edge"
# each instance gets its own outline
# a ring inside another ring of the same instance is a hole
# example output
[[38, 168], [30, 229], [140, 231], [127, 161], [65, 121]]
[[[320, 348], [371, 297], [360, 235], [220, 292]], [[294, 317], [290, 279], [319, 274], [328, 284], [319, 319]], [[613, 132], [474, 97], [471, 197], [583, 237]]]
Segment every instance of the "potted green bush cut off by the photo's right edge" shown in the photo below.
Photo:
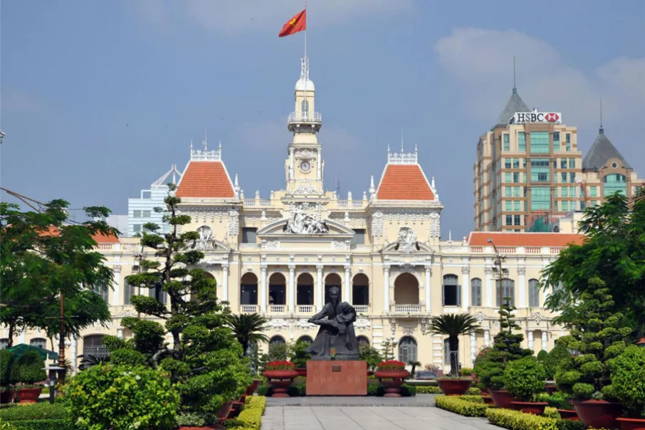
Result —
[[607, 362], [612, 385], [607, 390], [623, 405], [625, 418], [618, 421], [623, 430], [645, 429], [645, 348], [631, 345]]

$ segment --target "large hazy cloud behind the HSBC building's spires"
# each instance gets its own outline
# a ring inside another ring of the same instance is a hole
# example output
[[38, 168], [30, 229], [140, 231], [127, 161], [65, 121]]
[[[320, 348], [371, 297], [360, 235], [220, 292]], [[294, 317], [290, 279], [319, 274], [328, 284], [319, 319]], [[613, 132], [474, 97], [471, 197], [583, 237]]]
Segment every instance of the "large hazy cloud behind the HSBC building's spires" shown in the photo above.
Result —
[[439, 64], [463, 87], [466, 108], [480, 120], [497, 119], [513, 85], [517, 57], [518, 91], [529, 108], [562, 112], [579, 127], [597, 127], [599, 98], [612, 127], [641, 123], [645, 109], [645, 58], [614, 58], [584, 73], [567, 64], [557, 49], [516, 30], [455, 28], [434, 46]]

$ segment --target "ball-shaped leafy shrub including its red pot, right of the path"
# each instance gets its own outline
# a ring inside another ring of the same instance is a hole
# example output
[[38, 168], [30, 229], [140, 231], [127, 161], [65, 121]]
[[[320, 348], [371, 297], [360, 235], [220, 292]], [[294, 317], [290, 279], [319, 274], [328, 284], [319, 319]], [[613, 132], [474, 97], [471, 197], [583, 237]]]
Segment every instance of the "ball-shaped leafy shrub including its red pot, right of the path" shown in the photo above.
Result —
[[509, 362], [504, 369], [504, 387], [515, 399], [513, 407], [525, 414], [542, 415], [547, 402], [535, 402], [537, 394], [544, 389], [546, 378], [544, 366], [535, 357], [520, 358]]

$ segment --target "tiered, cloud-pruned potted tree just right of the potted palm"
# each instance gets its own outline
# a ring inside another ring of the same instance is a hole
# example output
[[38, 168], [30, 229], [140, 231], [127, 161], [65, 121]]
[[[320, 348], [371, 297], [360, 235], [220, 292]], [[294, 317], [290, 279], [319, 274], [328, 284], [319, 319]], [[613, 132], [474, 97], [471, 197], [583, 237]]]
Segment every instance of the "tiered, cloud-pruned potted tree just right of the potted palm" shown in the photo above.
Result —
[[504, 389], [504, 369], [508, 362], [519, 360], [522, 357], [533, 355], [533, 351], [521, 347], [524, 336], [520, 333], [513, 333], [513, 330], [520, 330], [520, 326], [513, 319], [515, 307], [510, 305], [508, 298], [505, 298], [503, 305], [498, 311], [500, 315], [500, 332], [493, 338], [494, 344], [483, 355], [478, 356], [475, 362], [474, 372], [478, 384], [486, 389], [493, 399], [495, 406], [505, 409], [513, 409], [515, 400], [513, 396]]

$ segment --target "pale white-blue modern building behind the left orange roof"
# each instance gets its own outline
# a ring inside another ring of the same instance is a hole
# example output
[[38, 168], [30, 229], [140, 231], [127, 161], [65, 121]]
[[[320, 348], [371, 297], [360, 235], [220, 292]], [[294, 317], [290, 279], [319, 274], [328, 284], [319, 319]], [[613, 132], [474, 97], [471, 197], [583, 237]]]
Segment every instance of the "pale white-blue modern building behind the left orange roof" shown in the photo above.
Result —
[[127, 199], [127, 236], [141, 233], [144, 224], [149, 222], [154, 222], [163, 231], [168, 231], [169, 225], [163, 222], [163, 212], [155, 212], [154, 208], [166, 207], [164, 199], [168, 195], [167, 183], [172, 181], [173, 184], [177, 184], [181, 177], [182, 172], [172, 164], [168, 172], [152, 182], [150, 189], [141, 190], [138, 199]]

